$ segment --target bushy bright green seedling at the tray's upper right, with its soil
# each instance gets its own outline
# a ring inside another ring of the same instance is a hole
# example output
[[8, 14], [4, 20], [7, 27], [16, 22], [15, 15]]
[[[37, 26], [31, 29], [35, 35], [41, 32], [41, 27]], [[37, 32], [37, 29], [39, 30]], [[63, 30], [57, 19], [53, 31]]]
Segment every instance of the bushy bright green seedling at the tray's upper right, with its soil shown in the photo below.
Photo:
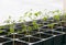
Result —
[[[54, 15], [54, 20], [57, 22], [57, 23], [59, 23], [58, 25], [59, 26], [63, 26], [64, 25], [64, 20], [62, 20], [62, 12], [59, 11], [59, 10], [56, 10], [55, 12], [57, 12], [57, 14], [56, 15]], [[54, 13], [55, 13], [54, 12]]]

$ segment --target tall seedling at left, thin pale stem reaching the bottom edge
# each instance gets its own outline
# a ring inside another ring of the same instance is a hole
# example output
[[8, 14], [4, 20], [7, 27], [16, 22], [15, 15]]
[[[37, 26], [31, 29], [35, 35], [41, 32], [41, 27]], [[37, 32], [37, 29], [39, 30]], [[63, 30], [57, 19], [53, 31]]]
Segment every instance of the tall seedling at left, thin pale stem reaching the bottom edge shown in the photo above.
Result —
[[7, 23], [8, 23], [8, 25], [9, 25], [9, 27], [10, 27], [10, 30], [9, 30], [9, 32], [8, 32], [8, 36], [10, 35], [10, 34], [13, 34], [13, 44], [12, 45], [14, 45], [14, 38], [15, 38], [15, 35], [14, 35], [14, 21], [11, 21], [11, 16], [9, 16], [9, 20], [7, 20], [6, 21]]

